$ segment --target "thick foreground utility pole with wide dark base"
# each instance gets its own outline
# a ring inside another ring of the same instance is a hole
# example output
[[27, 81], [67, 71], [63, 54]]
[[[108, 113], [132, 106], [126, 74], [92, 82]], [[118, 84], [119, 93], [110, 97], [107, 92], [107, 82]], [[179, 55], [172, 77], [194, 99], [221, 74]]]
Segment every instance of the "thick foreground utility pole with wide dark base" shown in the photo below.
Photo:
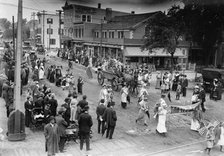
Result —
[[18, 22], [17, 22], [17, 40], [16, 40], [16, 63], [15, 63], [15, 85], [14, 85], [14, 108], [8, 118], [8, 140], [24, 140], [25, 134], [25, 116], [21, 112], [21, 59], [22, 59], [22, 0], [18, 0]]

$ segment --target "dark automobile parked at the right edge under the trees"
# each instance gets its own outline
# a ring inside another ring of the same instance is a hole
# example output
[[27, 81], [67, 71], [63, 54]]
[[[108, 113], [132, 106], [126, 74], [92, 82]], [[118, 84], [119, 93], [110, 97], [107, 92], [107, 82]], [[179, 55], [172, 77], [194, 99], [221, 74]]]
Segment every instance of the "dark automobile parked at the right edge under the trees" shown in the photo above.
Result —
[[222, 89], [224, 87], [224, 69], [204, 68], [202, 69], [202, 78], [206, 92], [211, 90], [214, 79], [218, 79], [220, 81]]

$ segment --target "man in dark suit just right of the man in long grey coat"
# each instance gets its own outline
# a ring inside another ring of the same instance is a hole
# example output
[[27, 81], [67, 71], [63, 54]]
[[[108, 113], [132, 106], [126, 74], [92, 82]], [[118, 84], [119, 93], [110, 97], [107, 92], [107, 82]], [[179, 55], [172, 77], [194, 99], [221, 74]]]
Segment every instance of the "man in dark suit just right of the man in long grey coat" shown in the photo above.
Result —
[[59, 135], [59, 151], [64, 151], [64, 146], [66, 142], [66, 127], [68, 126], [68, 123], [65, 121], [65, 119], [62, 117], [62, 114], [64, 113], [64, 110], [61, 109], [58, 111], [58, 115], [55, 117], [56, 123], [58, 125], [58, 135]]

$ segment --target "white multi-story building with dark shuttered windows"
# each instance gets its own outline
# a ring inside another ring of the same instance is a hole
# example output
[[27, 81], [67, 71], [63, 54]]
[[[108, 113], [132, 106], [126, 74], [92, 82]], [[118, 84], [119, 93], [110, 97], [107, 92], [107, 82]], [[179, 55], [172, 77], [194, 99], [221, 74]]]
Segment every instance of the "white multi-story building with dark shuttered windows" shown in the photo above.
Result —
[[61, 36], [64, 33], [63, 14], [61, 16], [61, 31], [59, 29], [59, 14], [38, 12], [37, 17], [37, 43], [43, 44], [48, 49], [60, 48], [60, 32]]

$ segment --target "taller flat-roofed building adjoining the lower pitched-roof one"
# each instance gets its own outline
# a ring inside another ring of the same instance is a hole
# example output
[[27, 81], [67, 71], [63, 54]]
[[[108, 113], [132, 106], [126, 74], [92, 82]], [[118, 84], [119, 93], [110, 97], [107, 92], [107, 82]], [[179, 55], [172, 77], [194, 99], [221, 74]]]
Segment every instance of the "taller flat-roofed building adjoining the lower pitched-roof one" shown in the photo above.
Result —
[[74, 48], [74, 51], [78, 52], [87, 50], [92, 53], [94, 51], [92, 44], [90, 46], [89, 44], [93, 42], [94, 29], [97, 25], [106, 23], [115, 16], [130, 14], [114, 11], [111, 8], [103, 9], [100, 3], [97, 7], [89, 7], [66, 1], [62, 8], [64, 11], [64, 46]]

